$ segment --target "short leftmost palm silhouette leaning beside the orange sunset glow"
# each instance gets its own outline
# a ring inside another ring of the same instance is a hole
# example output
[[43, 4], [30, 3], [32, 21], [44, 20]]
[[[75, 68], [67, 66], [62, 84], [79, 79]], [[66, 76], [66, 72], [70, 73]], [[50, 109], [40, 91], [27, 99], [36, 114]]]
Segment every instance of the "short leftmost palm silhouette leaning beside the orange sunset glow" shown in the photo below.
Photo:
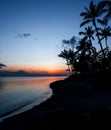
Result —
[[71, 74], [72, 72], [70, 69], [69, 52], [64, 49], [63, 51], [61, 51], [61, 53], [58, 56], [66, 60], [66, 64], [68, 66], [68, 71]]

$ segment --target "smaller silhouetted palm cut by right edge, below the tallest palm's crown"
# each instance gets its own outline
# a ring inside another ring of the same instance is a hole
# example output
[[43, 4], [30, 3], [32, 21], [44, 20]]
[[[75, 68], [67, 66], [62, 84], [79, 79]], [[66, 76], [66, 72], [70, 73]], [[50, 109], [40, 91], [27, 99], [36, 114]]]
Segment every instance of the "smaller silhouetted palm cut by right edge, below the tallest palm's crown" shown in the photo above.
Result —
[[108, 39], [109, 36], [111, 36], [111, 27], [108, 26], [108, 27], [105, 27], [104, 29], [100, 28], [100, 31], [101, 32], [99, 32], [99, 35], [102, 36], [101, 40], [105, 39], [105, 44], [106, 44], [106, 48], [107, 48], [107, 51], [108, 51], [107, 39]]

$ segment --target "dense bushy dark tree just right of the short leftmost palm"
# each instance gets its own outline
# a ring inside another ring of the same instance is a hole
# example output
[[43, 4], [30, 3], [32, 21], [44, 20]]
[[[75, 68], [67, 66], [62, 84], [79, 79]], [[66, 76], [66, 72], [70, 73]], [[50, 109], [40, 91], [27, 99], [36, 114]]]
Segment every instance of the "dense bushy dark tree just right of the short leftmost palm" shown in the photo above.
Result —
[[79, 45], [76, 47], [78, 57], [78, 66], [80, 72], [93, 72], [93, 65], [97, 62], [96, 48], [92, 46], [86, 37], [79, 41]]

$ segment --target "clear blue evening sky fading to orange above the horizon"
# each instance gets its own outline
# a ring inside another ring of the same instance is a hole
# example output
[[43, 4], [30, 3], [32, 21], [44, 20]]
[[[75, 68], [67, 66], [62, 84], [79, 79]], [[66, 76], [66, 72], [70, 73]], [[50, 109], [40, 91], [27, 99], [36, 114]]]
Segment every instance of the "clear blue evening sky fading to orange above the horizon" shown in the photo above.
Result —
[[[0, 63], [7, 70], [64, 72], [63, 39], [78, 37], [91, 0], [0, 0]], [[98, 2], [99, 0], [95, 0]]]

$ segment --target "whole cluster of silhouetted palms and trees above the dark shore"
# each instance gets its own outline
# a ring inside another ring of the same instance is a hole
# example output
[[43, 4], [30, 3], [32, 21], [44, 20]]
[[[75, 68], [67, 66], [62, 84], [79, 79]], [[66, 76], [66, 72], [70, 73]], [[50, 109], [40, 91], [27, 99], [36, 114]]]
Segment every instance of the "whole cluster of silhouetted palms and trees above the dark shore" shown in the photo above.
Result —
[[[80, 13], [83, 22], [79, 40], [73, 36], [63, 40], [63, 51], [58, 55], [66, 60], [70, 74], [94, 74], [111, 71], [111, 48], [108, 38], [111, 37], [111, 1], [90, 2], [89, 7]], [[100, 49], [98, 49], [98, 45]]]

